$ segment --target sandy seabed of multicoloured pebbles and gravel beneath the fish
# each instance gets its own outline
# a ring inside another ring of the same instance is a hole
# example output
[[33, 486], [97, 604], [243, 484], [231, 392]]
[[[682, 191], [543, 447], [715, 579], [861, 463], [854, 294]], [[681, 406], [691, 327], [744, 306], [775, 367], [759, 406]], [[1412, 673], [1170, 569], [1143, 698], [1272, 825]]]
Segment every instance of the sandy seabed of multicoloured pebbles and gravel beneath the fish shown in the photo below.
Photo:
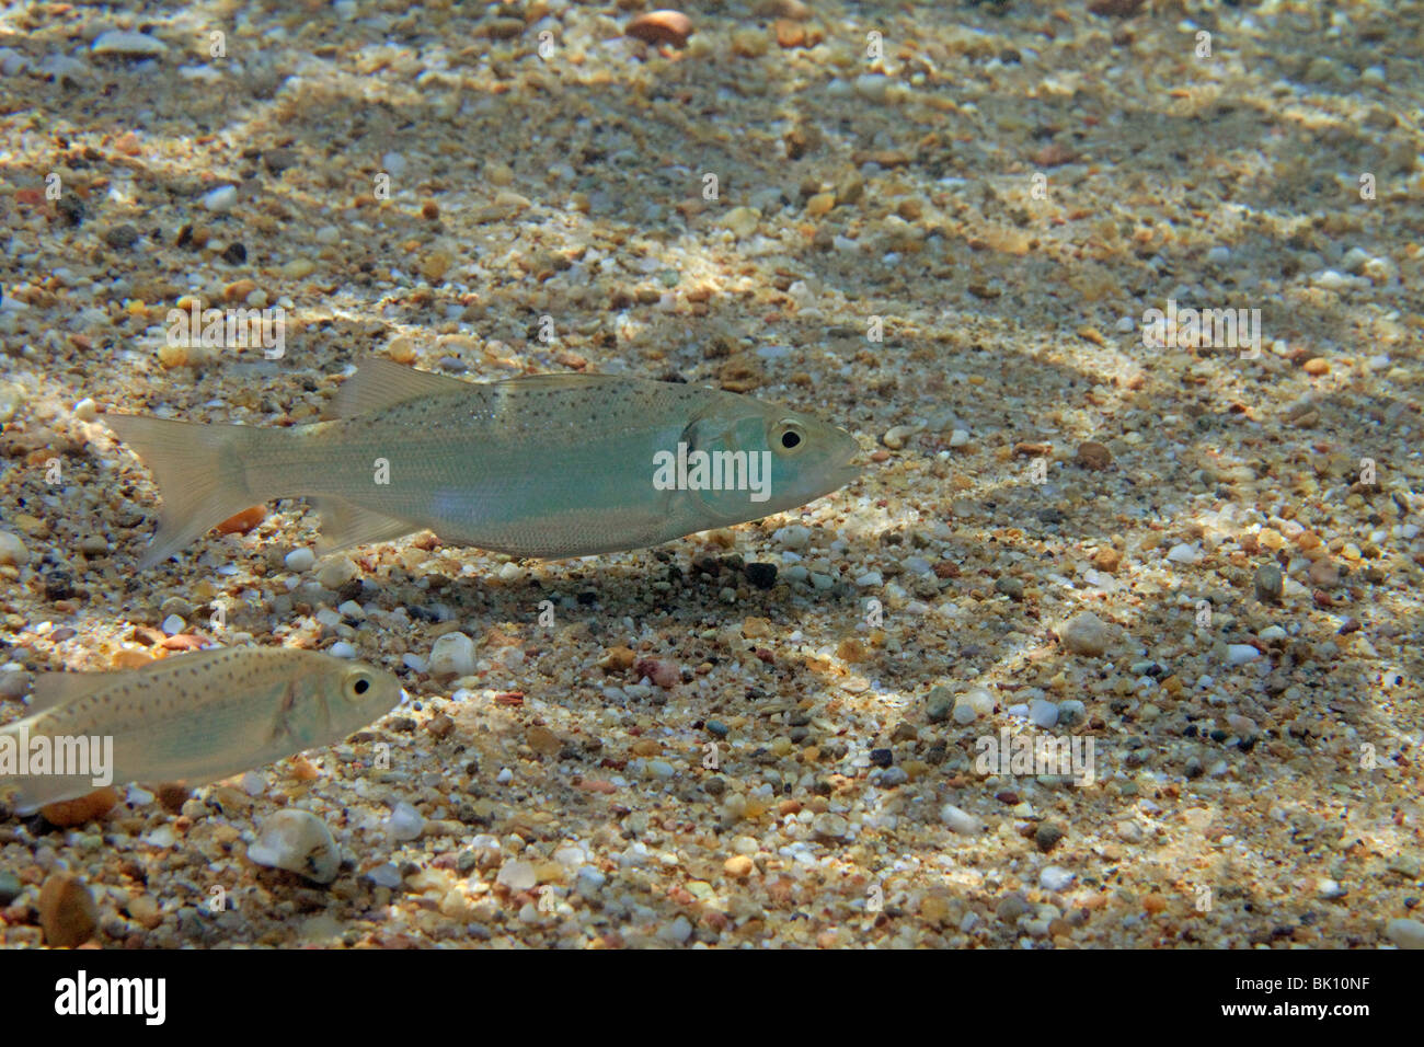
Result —
[[[206, 642], [412, 697], [7, 816], [0, 943], [1421, 944], [1424, 7], [641, 10], [0, 13], [0, 718]], [[281, 356], [175, 346], [194, 306]], [[289, 560], [279, 503], [135, 570], [105, 412], [313, 422], [372, 355], [746, 392], [866, 470], [581, 561]], [[283, 806], [330, 885], [248, 858]]]

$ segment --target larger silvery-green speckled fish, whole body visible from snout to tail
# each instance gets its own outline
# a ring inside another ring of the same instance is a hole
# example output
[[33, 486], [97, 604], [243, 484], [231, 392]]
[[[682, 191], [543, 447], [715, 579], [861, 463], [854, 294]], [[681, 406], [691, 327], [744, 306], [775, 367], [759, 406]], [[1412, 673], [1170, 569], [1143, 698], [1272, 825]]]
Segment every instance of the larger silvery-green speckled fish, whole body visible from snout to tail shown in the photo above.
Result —
[[471, 383], [370, 360], [289, 429], [105, 420], [164, 499], [141, 567], [251, 506], [310, 497], [320, 551], [431, 530], [517, 557], [642, 548], [759, 520], [860, 472], [842, 429], [749, 396], [612, 375]]

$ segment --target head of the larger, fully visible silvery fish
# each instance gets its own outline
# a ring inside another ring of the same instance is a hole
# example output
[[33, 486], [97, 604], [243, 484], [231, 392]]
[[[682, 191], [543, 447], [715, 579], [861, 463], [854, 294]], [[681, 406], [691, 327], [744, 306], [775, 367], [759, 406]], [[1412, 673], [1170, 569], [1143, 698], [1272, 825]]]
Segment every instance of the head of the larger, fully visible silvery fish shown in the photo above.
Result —
[[722, 524], [805, 506], [860, 474], [850, 464], [860, 446], [844, 429], [748, 396], [695, 420], [686, 437], [689, 456], [702, 450], [721, 464], [713, 473], [721, 489], [699, 486], [692, 493]]

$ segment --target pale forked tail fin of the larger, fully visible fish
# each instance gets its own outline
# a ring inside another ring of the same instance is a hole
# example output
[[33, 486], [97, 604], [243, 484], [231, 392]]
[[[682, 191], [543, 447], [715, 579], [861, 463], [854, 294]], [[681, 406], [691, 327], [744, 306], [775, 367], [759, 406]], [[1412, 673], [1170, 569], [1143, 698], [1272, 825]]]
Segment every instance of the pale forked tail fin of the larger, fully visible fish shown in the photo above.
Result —
[[255, 442], [279, 439], [281, 432], [137, 415], [108, 415], [104, 420], [152, 470], [164, 500], [158, 533], [140, 570], [162, 563], [209, 527], [273, 497], [251, 489], [244, 459], [251, 459]]

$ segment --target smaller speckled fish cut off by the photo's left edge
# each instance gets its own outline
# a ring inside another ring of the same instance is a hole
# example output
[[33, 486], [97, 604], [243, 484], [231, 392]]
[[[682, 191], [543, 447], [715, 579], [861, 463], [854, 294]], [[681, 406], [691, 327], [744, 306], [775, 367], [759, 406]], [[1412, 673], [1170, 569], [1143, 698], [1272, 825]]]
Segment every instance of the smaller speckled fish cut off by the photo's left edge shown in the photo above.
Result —
[[30, 715], [0, 728], [0, 793], [28, 815], [108, 783], [202, 785], [339, 742], [399, 701], [389, 672], [281, 647], [46, 672]]

